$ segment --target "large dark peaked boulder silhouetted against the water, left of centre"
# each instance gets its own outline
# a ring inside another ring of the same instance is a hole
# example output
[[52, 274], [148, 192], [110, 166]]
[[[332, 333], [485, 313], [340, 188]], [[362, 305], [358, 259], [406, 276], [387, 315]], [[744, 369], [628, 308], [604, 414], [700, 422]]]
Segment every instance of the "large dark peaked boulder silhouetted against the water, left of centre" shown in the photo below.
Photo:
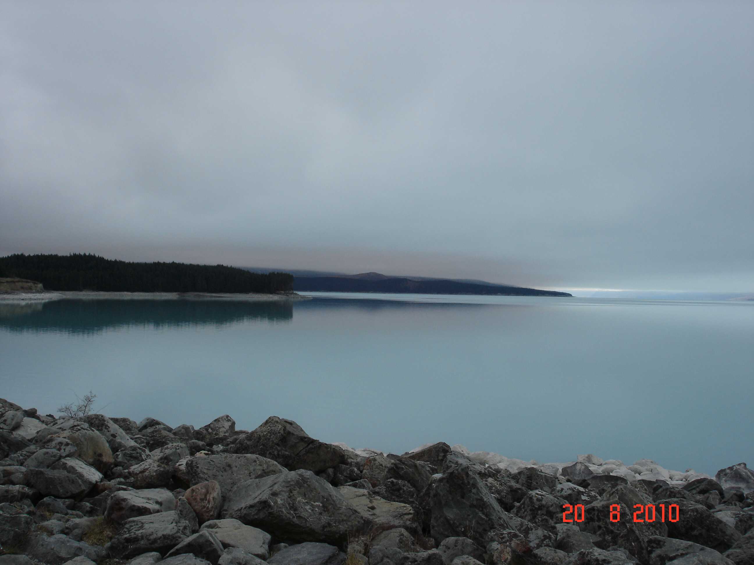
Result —
[[257, 429], [239, 439], [232, 448], [235, 454], [255, 454], [277, 461], [290, 471], [306, 469], [322, 472], [345, 464], [345, 452], [309, 435], [293, 420], [271, 416]]

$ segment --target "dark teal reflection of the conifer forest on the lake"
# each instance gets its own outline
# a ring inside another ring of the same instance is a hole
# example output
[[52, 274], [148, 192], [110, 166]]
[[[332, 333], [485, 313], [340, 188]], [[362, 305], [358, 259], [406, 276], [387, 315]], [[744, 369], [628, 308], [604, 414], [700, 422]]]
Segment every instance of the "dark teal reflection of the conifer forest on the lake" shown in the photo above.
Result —
[[220, 300], [57, 300], [0, 304], [0, 329], [95, 334], [112, 328], [222, 327], [238, 322], [290, 322], [293, 303]]

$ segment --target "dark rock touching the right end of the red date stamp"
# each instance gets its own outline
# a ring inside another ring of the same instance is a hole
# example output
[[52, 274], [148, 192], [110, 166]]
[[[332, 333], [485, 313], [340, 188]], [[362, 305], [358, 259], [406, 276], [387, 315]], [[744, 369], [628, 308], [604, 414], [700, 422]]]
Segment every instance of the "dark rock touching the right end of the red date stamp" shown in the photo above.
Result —
[[666, 522], [668, 537], [705, 545], [721, 553], [731, 548], [741, 537], [734, 527], [718, 520], [712, 512], [696, 502], [676, 498], [662, 500], [660, 503], [666, 507], [672, 504], [679, 506], [679, 521]]

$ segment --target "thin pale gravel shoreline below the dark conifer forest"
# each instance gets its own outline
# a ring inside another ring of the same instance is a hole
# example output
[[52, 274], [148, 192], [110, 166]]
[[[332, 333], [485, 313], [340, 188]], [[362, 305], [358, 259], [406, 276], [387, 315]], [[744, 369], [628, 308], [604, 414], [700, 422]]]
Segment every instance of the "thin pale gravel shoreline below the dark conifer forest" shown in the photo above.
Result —
[[241, 302], [280, 302], [311, 300], [308, 296], [238, 294], [230, 292], [97, 292], [97, 291], [57, 291], [57, 292], [8, 292], [0, 294], [0, 302], [32, 302], [49, 300], [224, 300]]

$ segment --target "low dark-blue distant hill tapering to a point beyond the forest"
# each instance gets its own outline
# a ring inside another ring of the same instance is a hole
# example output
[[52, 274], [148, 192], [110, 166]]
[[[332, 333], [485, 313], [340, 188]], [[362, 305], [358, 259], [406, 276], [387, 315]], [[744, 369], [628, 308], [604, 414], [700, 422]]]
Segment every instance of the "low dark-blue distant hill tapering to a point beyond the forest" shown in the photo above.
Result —
[[459, 282], [449, 279], [409, 279], [381, 273], [359, 273], [340, 276], [294, 276], [293, 290], [309, 292], [385, 292], [421, 295], [516, 295], [571, 296], [568, 292], [526, 289]]

